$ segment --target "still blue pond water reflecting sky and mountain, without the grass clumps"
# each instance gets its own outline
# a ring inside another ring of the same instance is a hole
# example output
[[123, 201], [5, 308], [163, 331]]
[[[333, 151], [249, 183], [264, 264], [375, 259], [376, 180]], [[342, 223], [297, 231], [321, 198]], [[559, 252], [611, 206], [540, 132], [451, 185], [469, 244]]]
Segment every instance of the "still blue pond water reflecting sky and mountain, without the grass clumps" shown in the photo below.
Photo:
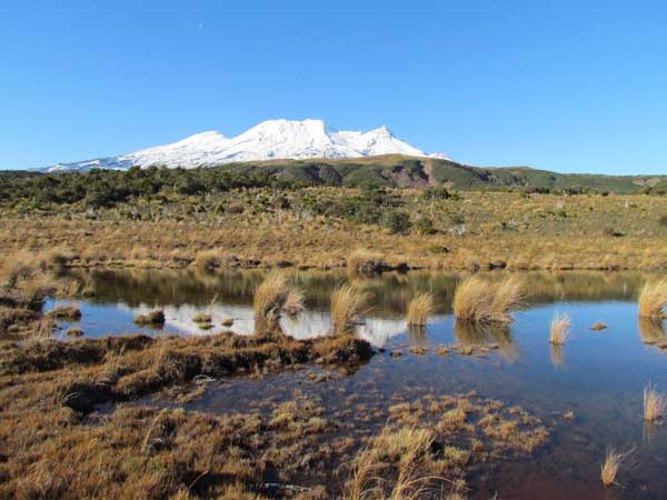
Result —
[[[252, 293], [263, 277], [260, 271], [72, 272], [94, 294], [74, 301], [82, 317], [61, 323], [56, 334], [63, 341], [72, 327], [87, 337], [140, 331], [206, 336], [230, 329], [249, 334]], [[285, 272], [303, 291], [306, 311], [297, 319], [281, 320], [283, 331], [297, 339], [327, 334], [330, 293], [348, 279], [346, 274]], [[646, 384], [667, 390], [664, 324], [639, 321], [637, 316], [639, 288], [650, 277], [570, 271], [526, 273], [525, 278], [524, 307], [506, 328], [472, 328], [455, 321], [456, 274], [417, 271], [355, 279], [372, 298], [365, 323], [357, 328], [357, 334], [378, 350], [368, 363], [347, 371], [307, 366], [212, 381], [203, 396], [178, 406], [211, 413], [270, 413], [286, 401], [303, 398], [323, 408], [323, 417], [345, 420], [340, 433], [369, 437], [381, 430], [394, 406], [475, 391], [480, 398], [526, 409], [541, 420], [549, 437], [530, 454], [508, 454], [472, 470], [467, 478], [469, 498], [489, 499], [496, 493], [502, 500], [667, 498], [667, 426], [643, 420]], [[425, 330], [408, 331], [405, 311], [418, 291], [435, 294], [436, 313]], [[49, 300], [47, 309], [68, 303]], [[162, 329], [133, 323], [138, 314], [156, 308], [165, 311]], [[212, 328], [203, 330], [192, 320], [201, 312], [212, 316]], [[550, 321], [557, 312], [571, 318], [570, 338], [559, 348], [549, 343]], [[596, 322], [607, 328], [595, 331], [590, 327]], [[470, 349], [449, 349], [444, 354], [441, 347], [452, 344]], [[165, 396], [139, 403], [177, 406]], [[567, 412], [571, 412], [568, 418]], [[619, 472], [619, 487], [605, 488], [599, 479], [608, 447], [635, 448]], [[336, 481], [335, 474], [328, 480]]]

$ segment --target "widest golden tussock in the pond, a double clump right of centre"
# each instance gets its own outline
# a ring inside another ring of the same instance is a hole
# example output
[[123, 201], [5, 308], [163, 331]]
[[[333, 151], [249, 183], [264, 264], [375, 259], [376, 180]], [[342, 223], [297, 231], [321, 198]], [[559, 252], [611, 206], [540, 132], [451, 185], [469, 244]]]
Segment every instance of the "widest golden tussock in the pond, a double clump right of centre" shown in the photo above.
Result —
[[520, 306], [524, 293], [524, 282], [518, 276], [498, 283], [472, 276], [457, 287], [454, 313], [466, 321], [510, 323], [510, 312]]

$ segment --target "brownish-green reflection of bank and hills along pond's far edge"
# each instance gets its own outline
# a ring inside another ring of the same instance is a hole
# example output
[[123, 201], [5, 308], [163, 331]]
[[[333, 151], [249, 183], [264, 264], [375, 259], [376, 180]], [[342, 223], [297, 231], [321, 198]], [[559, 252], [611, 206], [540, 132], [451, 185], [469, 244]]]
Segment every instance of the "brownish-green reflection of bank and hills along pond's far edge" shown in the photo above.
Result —
[[[283, 272], [299, 287], [310, 310], [328, 311], [331, 291], [349, 279], [344, 271]], [[506, 272], [488, 272], [489, 280], [502, 279]], [[96, 292], [94, 301], [122, 301], [160, 307], [165, 304], [205, 306], [217, 297], [220, 302], [249, 306], [262, 281], [263, 270], [223, 270], [207, 273], [185, 270], [110, 270], [77, 271], [77, 276]], [[526, 281], [527, 306], [555, 301], [636, 300], [646, 277], [637, 272], [529, 272]], [[372, 314], [382, 318], [402, 316], [408, 302], [418, 291], [436, 297], [436, 312], [451, 312], [451, 300], [460, 277], [454, 273], [414, 271], [407, 274], [384, 273], [372, 279], [355, 280], [370, 292]]]

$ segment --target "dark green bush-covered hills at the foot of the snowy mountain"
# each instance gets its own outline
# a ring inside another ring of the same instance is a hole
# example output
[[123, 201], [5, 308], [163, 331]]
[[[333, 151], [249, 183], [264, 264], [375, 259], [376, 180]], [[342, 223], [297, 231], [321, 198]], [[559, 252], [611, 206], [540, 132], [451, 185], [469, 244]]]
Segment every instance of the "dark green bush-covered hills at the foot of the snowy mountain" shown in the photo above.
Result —
[[635, 194], [667, 192], [667, 176], [557, 173], [528, 167], [471, 167], [451, 160], [400, 154], [368, 158], [271, 160], [180, 169], [166, 166], [128, 170], [0, 172], [0, 200], [125, 199], [166, 189], [201, 193], [241, 187], [330, 186], [350, 188]]

